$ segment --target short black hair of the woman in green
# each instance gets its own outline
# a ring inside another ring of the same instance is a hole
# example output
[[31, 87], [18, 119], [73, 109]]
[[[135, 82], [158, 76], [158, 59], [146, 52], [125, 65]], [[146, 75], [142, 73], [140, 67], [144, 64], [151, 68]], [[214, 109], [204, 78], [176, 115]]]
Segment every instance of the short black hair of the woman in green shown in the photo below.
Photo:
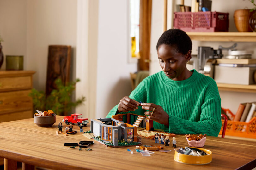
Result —
[[188, 51], [192, 50], [192, 41], [186, 32], [180, 29], [169, 29], [165, 31], [158, 39], [156, 44], [156, 50], [162, 44], [176, 46], [179, 53], [187, 54]]

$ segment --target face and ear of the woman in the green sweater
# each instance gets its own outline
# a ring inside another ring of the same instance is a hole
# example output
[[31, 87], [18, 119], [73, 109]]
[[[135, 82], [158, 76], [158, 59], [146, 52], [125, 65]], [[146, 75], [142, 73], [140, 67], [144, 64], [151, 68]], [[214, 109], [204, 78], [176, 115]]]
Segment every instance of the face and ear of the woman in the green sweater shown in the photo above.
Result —
[[158, 47], [157, 55], [166, 76], [175, 81], [187, 78], [186, 62], [191, 59], [191, 51], [184, 55], [179, 53], [176, 47], [162, 44]]

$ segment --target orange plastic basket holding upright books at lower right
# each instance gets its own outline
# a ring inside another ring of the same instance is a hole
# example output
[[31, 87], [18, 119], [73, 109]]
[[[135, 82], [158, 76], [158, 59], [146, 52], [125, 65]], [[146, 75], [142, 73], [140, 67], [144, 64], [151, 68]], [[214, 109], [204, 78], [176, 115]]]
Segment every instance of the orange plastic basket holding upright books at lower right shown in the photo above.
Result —
[[[223, 110], [226, 112], [230, 119], [235, 117], [229, 109]], [[222, 120], [222, 127], [219, 133], [220, 135], [222, 134], [223, 124], [224, 120]], [[228, 120], [225, 135], [256, 139], [256, 117], [253, 117], [248, 123]]]

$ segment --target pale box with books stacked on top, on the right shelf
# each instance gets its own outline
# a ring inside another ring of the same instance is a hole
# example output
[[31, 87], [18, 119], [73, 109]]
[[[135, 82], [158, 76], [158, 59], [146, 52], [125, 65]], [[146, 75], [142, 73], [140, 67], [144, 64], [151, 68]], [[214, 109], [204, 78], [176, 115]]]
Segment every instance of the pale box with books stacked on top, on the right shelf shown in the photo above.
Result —
[[255, 84], [256, 59], [216, 59], [214, 80], [226, 84]]

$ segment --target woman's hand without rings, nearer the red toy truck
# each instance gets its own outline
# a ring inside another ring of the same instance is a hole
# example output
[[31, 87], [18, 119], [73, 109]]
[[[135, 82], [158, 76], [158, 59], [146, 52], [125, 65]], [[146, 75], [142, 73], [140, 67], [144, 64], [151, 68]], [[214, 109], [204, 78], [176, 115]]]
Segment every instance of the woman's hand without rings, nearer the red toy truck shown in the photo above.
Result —
[[140, 105], [139, 102], [136, 100], [133, 100], [129, 98], [128, 96], [123, 97], [123, 99], [120, 100], [117, 108], [118, 112], [128, 112], [128, 111], [135, 111], [138, 109], [138, 106]]

